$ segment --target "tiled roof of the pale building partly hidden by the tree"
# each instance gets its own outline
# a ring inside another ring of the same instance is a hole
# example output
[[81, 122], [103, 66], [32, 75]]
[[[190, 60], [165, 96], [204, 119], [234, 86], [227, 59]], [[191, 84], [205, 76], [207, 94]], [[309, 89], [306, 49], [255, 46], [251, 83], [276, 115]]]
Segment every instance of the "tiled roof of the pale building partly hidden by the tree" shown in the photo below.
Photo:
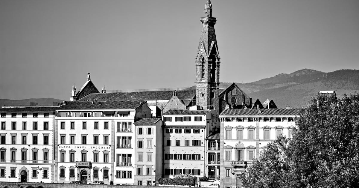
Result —
[[225, 109], [220, 116], [298, 116], [299, 108], [271, 108], [261, 109], [262, 112], [258, 113], [258, 109]]

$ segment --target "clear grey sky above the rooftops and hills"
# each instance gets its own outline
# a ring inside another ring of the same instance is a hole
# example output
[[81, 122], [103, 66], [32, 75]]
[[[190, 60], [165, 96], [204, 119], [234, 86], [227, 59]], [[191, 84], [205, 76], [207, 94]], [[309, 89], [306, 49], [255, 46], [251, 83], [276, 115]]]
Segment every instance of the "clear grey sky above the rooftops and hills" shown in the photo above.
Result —
[[[0, 99], [195, 85], [206, 0], [0, 0]], [[211, 0], [221, 82], [359, 69], [358, 0]]]

